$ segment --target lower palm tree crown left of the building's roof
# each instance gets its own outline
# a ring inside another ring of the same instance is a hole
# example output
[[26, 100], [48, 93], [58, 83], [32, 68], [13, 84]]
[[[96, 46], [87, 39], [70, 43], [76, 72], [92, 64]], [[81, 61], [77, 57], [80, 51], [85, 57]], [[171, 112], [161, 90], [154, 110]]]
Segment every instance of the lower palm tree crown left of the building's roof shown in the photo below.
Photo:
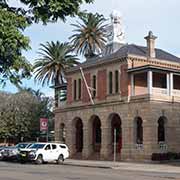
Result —
[[35, 80], [45, 84], [58, 86], [65, 82], [66, 68], [78, 64], [78, 58], [72, 55], [72, 48], [68, 43], [47, 42], [40, 44], [41, 56], [34, 64]]

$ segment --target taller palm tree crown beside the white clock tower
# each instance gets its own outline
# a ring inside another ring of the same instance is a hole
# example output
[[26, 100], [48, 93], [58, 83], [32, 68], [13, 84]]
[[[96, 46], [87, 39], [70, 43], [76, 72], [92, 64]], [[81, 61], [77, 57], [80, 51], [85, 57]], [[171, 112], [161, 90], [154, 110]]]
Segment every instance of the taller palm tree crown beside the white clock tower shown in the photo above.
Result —
[[82, 23], [72, 24], [76, 29], [70, 37], [78, 54], [93, 57], [101, 53], [106, 43], [106, 25], [103, 15], [87, 13], [80, 17]]

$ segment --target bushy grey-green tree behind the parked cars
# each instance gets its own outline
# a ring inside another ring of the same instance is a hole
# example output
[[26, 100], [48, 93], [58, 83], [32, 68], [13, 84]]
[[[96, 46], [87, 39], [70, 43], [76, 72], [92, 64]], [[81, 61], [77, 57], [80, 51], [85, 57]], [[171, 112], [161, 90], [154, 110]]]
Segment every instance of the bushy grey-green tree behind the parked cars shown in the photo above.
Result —
[[[40, 98], [26, 90], [16, 94], [0, 93], [0, 138], [20, 141], [39, 136], [39, 119], [47, 117], [53, 122], [50, 98]], [[53, 127], [52, 127], [53, 128]]]

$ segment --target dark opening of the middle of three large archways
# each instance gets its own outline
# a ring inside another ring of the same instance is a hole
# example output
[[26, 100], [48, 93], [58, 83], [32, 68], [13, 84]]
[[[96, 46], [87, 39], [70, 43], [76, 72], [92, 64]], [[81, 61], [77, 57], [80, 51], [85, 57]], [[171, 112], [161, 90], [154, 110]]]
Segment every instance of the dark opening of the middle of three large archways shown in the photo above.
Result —
[[92, 145], [94, 152], [101, 150], [101, 121], [98, 116], [92, 117]]

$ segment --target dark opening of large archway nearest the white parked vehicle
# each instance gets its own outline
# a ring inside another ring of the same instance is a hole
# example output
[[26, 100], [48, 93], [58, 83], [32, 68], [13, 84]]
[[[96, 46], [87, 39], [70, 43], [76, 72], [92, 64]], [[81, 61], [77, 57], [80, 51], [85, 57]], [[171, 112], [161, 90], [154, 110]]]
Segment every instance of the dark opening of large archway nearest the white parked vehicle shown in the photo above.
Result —
[[76, 120], [76, 152], [83, 150], [83, 123], [80, 118]]

